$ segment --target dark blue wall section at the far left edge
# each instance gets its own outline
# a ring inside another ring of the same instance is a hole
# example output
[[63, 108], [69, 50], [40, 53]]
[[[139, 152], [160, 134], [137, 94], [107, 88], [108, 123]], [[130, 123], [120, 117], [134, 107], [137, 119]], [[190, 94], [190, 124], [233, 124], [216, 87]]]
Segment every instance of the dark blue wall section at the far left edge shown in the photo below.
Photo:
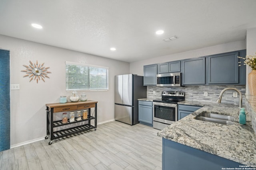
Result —
[[0, 49], [0, 152], [10, 149], [10, 51]]

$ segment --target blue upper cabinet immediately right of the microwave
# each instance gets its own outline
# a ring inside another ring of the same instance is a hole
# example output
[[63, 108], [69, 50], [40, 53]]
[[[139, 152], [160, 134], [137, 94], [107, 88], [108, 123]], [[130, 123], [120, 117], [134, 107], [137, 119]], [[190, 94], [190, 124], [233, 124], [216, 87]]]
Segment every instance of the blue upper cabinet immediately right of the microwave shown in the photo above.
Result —
[[182, 85], [205, 84], [205, 57], [182, 60]]

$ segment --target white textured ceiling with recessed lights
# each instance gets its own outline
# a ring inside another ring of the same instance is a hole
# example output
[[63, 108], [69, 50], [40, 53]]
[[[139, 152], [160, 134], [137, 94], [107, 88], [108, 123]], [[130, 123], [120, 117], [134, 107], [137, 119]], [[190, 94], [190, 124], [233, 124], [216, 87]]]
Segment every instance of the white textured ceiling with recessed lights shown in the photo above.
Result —
[[256, 0], [0, 0], [0, 34], [134, 62], [245, 39], [255, 16]]

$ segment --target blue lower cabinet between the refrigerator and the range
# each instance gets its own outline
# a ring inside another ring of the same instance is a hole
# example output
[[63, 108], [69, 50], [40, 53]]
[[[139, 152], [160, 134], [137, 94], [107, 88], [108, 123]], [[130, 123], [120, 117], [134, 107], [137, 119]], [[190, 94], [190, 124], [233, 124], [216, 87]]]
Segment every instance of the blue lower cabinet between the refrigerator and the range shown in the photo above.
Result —
[[153, 126], [152, 102], [139, 101], [139, 121], [141, 124]]

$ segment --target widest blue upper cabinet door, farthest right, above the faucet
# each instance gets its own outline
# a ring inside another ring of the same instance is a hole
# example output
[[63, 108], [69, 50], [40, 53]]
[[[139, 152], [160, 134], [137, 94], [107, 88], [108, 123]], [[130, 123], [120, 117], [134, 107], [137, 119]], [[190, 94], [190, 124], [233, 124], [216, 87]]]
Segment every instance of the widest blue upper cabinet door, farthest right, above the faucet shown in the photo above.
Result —
[[208, 84], [238, 84], [238, 52], [208, 57]]

